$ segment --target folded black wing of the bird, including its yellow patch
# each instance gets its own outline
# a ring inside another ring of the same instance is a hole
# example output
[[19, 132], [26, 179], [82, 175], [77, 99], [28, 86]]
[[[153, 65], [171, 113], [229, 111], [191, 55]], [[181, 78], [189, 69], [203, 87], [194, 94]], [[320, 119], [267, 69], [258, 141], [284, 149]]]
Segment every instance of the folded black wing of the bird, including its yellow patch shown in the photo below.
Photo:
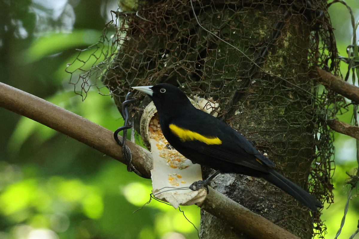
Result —
[[189, 112], [187, 117], [176, 117], [169, 123], [169, 128], [182, 141], [182, 148], [262, 172], [268, 172], [268, 166], [274, 166], [244, 136], [200, 110]]

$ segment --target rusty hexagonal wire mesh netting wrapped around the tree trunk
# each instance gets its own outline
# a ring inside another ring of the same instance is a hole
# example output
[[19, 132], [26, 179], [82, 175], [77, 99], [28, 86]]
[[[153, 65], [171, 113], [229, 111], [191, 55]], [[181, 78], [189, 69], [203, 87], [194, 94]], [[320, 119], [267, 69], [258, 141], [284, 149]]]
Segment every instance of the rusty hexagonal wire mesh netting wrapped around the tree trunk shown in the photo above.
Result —
[[[154, 1], [113, 17], [94, 52], [86, 59], [80, 52], [68, 66], [76, 93], [106, 87], [119, 107], [131, 86], [167, 82], [212, 98], [218, 117], [267, 153], [276, 169], [332, 202], [334, 147], [326, 121], [345, 102], [311, 77], [314, 67], [340, 74], [323, 1]], [[265, 197], [253, 188], [242, 197], [253, 194]], [[304, 235], [313, 223], [324, 235], [320, 214], [309, 217], [278, 197], [263, 206], [286, 212], [273, 220], [301, 218]], [[266, 216], [264, 208], [251, 210]]]

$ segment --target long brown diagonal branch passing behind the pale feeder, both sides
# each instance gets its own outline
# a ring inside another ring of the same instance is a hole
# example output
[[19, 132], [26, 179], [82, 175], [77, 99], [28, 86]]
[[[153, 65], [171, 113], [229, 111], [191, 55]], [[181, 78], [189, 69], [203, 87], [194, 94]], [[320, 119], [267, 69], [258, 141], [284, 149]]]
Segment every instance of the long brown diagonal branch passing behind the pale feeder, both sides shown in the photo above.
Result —
[[[126, 163], [122, 148], [113, 139], [113, 132], [44, 99], [0, 82], [0, 107], [33, 119]], [[132, 152], [134, 167], [142, 177], [150, 178], [151, 154], [132, 142], [127, 141], [127, 145]], [[211, 188], [201, 208], [252, 238], [299, 239]]]

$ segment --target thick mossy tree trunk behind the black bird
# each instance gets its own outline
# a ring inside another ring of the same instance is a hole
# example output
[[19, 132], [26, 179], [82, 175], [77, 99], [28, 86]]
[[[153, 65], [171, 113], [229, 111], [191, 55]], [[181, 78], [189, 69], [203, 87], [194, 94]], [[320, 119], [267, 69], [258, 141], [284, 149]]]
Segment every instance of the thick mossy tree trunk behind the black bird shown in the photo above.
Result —
[[[121, 48], [104, 79], [115, 101], [120, 104], [131, 86], [160, 82], [213, 98], [220, 118], [307, 189], [316, 153], [310, 14], [279, 1], [193, 4], [199, 23], [213, 34], [200, 27], [185, 0], [151, 3], [137, 13], [141, 18], [126, 15]], [[221, 174], [212, 187], [300, 238], [312, 237], [309, 210], [265, 180]], [[201, 238], [248, 236], [202, 210]]]

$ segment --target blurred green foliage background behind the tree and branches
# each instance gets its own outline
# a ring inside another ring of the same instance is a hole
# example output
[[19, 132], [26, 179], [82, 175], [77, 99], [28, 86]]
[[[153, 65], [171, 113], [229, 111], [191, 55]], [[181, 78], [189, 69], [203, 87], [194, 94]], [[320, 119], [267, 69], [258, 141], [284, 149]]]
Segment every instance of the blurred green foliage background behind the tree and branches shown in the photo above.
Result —
[[[359, 1], [346, 3], [358, 21]], [[76, 49], [99, 41], [114, 17], [110, 10], [117, 8], [117, 0], [0, 0], [0, 82], [116, 130], [123, 121], [108, 91], [101, 88], [102, 95], [90, 88], [83, 101], [65, 69], [78, 57]], [[353, 32], [348, 10], [336, 3], [330, 15], [339, 53], [347, 56]], [[91, 53], [81, 56], [85, 60]], [[341, 65], [343, 74], [346, 68]], [[350, 123], [352, 116], [349, 107], [338, 118]], [[339, 229], [347, 198], [346, 172], [354, 174], [358, 167], [353, 138], [336, 133], [335, 146], [335, 203], [322, 211], [325, 238], [334, 238]], [[150, 191], [150, 180], [127, 172], [116, 160], [0, 108], [0, 239], [198, 238], [196, 206], [181, 208], [188, 220], [180, 210], [155, 200], [133, 213], [149, 200]], [[349, 238], [357, 229], [356, 194], [354, 190], [339, 238]]]

